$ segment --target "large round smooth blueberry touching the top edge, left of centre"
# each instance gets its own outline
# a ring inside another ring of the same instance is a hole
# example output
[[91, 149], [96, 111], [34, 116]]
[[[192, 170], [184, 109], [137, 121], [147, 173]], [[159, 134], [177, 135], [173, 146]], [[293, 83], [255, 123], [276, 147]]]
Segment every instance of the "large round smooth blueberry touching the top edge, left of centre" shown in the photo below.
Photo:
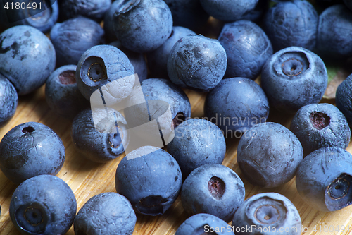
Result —
[[171, 34], [171, 11], [163, 0], [123, 1], [114, 13], [113, 28], [127, 49], [151, 52]]

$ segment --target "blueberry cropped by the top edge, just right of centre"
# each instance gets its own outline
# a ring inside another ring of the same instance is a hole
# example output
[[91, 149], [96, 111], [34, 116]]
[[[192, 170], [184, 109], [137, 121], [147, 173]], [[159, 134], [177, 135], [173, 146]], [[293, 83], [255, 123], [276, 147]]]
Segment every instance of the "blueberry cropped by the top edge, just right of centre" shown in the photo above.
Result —
[[210, 16], [225, 21], [241, 20], [256, 4], [258, 0], [201, 0], [201, 6]]

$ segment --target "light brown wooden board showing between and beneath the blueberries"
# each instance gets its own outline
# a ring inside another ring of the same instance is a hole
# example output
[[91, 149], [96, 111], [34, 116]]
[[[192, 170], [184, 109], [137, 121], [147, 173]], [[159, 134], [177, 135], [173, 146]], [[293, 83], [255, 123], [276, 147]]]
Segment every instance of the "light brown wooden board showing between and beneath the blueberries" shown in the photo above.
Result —
[[[189, 100], [191, 100], [192, 117], [203, 116], [203, 103], [205, 95], [186, 90]], [[284, 116], [277, 112], [270, 111], [268, 121], [275, 121], [289, 127], [292, 116]], [[89, 162], [80, 156], [73, 146], [70, 137], [71, 123], [65, 119], [61, 119], [53, 111], [49, 109], [44, 97], [44, 86], [36, 92], [20, 97], [18, 109], [11, 121], [0, 129], [0, 138], [11, 130], [14, 126], [27, 121], [37, 121], [52, 128], [65, 145], [66, 159], [63, 168], [58, 173], [58, 177], [63, 179], [72, 188], [77, 198], [77, 211], [87, 202], [93, 195], [104, 192], [115, 192], [115, 170], [120, 162], [122, 155], [118, 159], [105, 164], [96, 164]], [[223, 164], [233, 169], [244, 181], [246, 188], [246, 198], [256, 193], [276, 192], [285, 195], [296, 205], [301, 215], [303, 228], [306, 232], [302, 234], [352, 234], [352, 206], [346, 207], [337, 212], [318, 212], [309, 207], [301, 200], [297, 191], [294, 179], [279, 188], [260, 188], [252, 186], [244, 180], [241, 171], [237, 165], [236, 152], [238, 139], [227, 140], [227, 152]], [[352, 152], [351, 145], [347, 148], [348, 152]], [[0, 205], [2, 207], [0, 219], [1, 235], [17, 235], [20, 234], [11, 222], [8, 213], [8, 207], [11, 195], [15, 191], [15, 184], [6, 179], [6, 176], [0, 172]], [[134, 235], [153, 234], [166, 235], [175, 234], [177, 227], [187, 219], [180, 197], [172, 207], [165, 212], [165, 215], [157, 217], [148, 217], [137, 215], [137, 224], [134, 229]], [[351, 228], [350, 228], [351, 226]], [[346, 227], [341, 231], [341, 227]], [[307, 229], [308, 228], [308, 229]], [[316, 231], [314, 231], [314, 228]], [[330, 231], [329, 231], [330, 229]], [[73, 227], [67, 234], [73, 235]]]

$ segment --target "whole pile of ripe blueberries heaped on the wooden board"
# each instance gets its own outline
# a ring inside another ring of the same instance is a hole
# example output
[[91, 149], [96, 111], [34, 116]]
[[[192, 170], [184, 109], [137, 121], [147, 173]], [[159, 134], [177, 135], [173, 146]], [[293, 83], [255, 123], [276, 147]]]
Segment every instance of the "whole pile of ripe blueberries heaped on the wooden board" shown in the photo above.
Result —
[[[155, 118], [148, 106], [146, 115], [144, 107], [112, 108], [132, 103], [137, 86], [146, 104], [168, 103], [172, 124], [161, 123], [159, 131], [175, 135], [168, 152], [153, 146], [129, 152], [116, 169], [117, 193], [95, 195], [76, 215], [73, 191], [55, 176], [65, 160], [61, 139], [42, 123], [15, 126], [0, 142], [0, 168], [19, 185], [10, 216], [21, 234], [65, 234], [72, 224], [76, 235], [132, 234], [136, 213], [162, 215], [179, 195], [190, 217], [177, 235], [301, 234], [298, 211], [283, 195], [244, 200], [244, 183], [222, 165], [225, 139], [234, 137], [241, 137], [237, 163], [253, 185], [275, 188], [296, 176], [299, 195], [316, 210], [352, 204], [352, 155], [345, 150], [352, 75], [337, 88], [336, 106], [319, 103], [328, 83], [324, 61], [352, 56], [351, 1], [3, 5], [0, 126], [15, 114], [18, 95], [45, 83], [49, 107], [72, 121], [77, 150], [93, 162], [111, 161], [130, 142], [123, 130]], [[209, 22], [220, 25], [218, 39], [203, 36]], [[207, 92], [202, 118], [191, 119], [184, 88]], [[104, 106], [92, 109], [96, 96]], [[290, 130], [267, 122], [270, 109], [294, 115]]]

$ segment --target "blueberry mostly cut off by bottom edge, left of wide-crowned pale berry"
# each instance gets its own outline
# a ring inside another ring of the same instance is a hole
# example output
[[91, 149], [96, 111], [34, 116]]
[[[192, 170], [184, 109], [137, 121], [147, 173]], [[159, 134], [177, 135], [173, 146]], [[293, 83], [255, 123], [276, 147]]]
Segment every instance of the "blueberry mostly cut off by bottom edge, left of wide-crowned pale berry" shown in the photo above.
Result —
[[227, 222], [214, 215], [197, 214], [186, 219], [178, 227], [175, 235], [196, 235], [196, 234], [215, 234], [234, 235], [232, 228]]

